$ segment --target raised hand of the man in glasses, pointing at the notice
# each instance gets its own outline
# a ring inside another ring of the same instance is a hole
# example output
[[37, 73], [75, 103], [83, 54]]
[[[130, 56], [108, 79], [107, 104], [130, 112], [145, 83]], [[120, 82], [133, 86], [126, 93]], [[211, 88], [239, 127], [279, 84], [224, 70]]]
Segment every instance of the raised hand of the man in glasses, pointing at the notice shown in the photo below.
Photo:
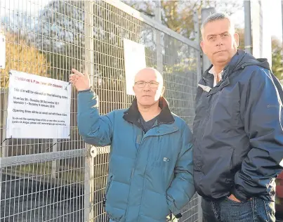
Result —
[[78, 70], [72, 69], [74, 74], [70, 75], [70, 82], [76, 87], [77, 91], [84, 91], [91, 88], [88, 74], [82, 74]]

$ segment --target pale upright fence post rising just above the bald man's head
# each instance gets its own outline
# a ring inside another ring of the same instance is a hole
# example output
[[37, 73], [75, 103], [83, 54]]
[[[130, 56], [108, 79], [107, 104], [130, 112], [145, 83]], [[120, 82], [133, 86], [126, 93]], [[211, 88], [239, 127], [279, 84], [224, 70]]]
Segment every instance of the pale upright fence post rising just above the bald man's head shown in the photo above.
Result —
[[[160, 24], [162, 23], [162, 18], [161, 18], [161, 2], [160, 1], [155, 1], [156, 8], [155, 8], [155, 20], [159, 22]], [[162, 54], [162, 36], [161, 32], [159, 30], [155, 30], [156, 32], [156, 51], [157, 51], [157, 70], [159, 72], [163, 72], [163, 54]]]

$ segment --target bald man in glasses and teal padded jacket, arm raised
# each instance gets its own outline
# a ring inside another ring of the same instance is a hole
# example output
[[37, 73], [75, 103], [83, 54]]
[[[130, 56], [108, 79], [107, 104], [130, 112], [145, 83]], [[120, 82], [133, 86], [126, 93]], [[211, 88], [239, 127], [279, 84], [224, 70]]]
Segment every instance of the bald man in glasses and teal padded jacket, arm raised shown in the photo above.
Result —
[[[136, 74], [136, 98], [127, 110], [99, 115], [98, 96], [88, 75], [72, 70], [79, 91], [78, 128], [86, 143], [110, 145], [105, 199], [110, 221], [164, 222], [179, 218], [195, 193], [192, 133], [173, 115], [162, 75], [152, 68]], [[168, 217], [167, 217], [168, 218]]]

